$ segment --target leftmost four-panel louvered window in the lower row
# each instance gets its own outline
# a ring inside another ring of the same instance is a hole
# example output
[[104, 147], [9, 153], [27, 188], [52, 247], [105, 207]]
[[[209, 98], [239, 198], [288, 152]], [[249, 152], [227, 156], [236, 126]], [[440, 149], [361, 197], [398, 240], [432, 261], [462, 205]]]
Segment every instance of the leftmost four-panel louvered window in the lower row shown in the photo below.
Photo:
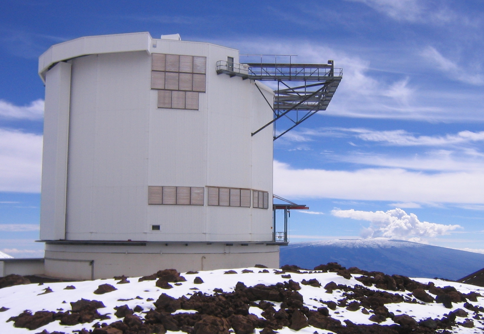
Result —
[[203, 205], [203, 187], [149, 186], [148, 204]]

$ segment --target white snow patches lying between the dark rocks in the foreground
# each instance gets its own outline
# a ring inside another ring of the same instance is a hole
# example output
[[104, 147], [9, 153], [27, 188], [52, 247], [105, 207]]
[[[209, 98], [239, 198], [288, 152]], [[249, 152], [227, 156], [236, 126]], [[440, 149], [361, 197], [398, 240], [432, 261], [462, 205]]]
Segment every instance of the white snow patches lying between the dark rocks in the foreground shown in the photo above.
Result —
[[[254, 273], [241, 273], [242, 269], [249, 269], [253, 270]], [[13, 326], [13, 321], [6, 322], [7, 319], [13, 316], [17, 316], [22, 313], [24, 310], [29, 309], [33, 312], [46, 310], [46, 311], [58, 311], [58, 310], [70, 310], [70, 302], [76, 302], [81, 298], [89, 299], [89, 300], [98, 300], [106, 305], [105, 308], [98, 309], [100, 314], [110, 314], [111, 319], [102, 320], [101, 322], [111, 323], [114, 321], [119, 320], [116, 316], [114, 316], [114, 307], [121, 306], [121, 305], [128, 305], [131, 309], [134, 309], [136, 305], [140, 305], [143, 308], [143, 311], [148, 311], [151, 308], [154, 308], [153, 302], [156, 301], [160, 294], [166, 293], [174, 298], [179, 298], [182, 295], [187, 296], [188, 298], [197, 290], [190, 290], [190, 288], [197, 288], [199, 291], [213, 294], [213, 289], [219, 288], [224, 290], [225, 292], [233, 291], [237, 282], [243, 282], [247, 287], [254, 286], [256, 284], [265, 284], [265, 285], [272, 285], [276, 284], [277, 282], [284, 282], [288, 281], [288, 278], [282, 278], [280, 274], [277, 274], [276, 269], [268, 269], [269, 273], [258, 273], [262, 269], [259, 268], [241, 268], [241, 269], [234, 269], [238, 274], [224, 274], [226, 270], [212, 270], [212, 271], [200, 271], [196, 275], [187, 275], [185, 273], [181, 273], [181, 276], [184, 276], [187, 281], [181, 282], [181, 285], [176, 286], [173, 283], [173, 289], [164, 290], [160, 289], [155, 286], [155, 280], [150, 281], [142, 281], [138, 282], [137, 277], [130, 277], [128, 280], [130, 283], [127, 284], [117, 284], [119, 280], [115, 279], [97, 279], [94, 281], [79, 281], [79, 282], [59, 282], [59, 283], [45, 283], [44, 285], [38, 284], [28, 284], [28, 285], [18, 285], [8, 288], [0, 289], [0, 308], [7, 307], [9, 308], [7, 311], [0, 312], [0, 333], [9, 333], [9, 334], [26, 334], [26, 333], [39, 333], [42, 332], [44, 329], [48, 332], [53, 331], [61, 331], [65, 333], [72, 333], [75, 330], [81, 330], [82, 328], [92, 329], [92, 325], [100, 320], [96, 319], [91, 323], [84, 323], [84, 324], [77, 324], [74, 326], [62, 326], [60, 325], [59, 321], [51, 322], [43, 327], [35, 329], [33, 331], [24, 329], [24, 328], [15, 328]], [[280, 272], [279, 272], [280, 273]], [[288, 273], [290, 274], [292, 280], [295, 282], [301, 283], [302, 279], [309, 280], [311, 278], [316, 278], [324, 287], [327, 283], [333, 281], [336, 284], [344, 284], [348, 286], [354, 286], [356, 284], [362, 285], [361, 282], [355, 279], [355, 277], [359, 277], [361, 275], [353, 274], [350, 279], [346, 279], [342, 276], [336, 275], [336, 273], [321, 273], [321, 272], [312, 272], [312, 273]], [[193, 279], [199, 276], [203, 279], [204, 283], [202, 284], [194, 284]], [[443, 281], [439, 279], [428, 279], [428, 278], [412, 278], [416, 281], [421, 283], [428, 283], [434, 282], [437, 287], [444, 287], [444, 286], [454, 286], [457, 290], [462, 293], [468, 293], [470, 291], [475, 291], [484, 296], [484, 288], [463, 284], [458, 282], [449, 282]], [[118, 290], [108, 292], [102, 295], [96, 295], [93, 293], [94, 290], [101, 284], [111, 284], [116, 287]], [[68, 285], [74, 285], [76, 287], [75, 290], [64, 290], [64, 288]], [[49, 287], [53, 290], [53, 292], [48, 294], [41, 294], [45, 291], [45, 289]], [[305, 306], [309, 307], [310, 309], [316, 310], [318, 307], [326, 306], [319, 302], [319, 300], [323, 301], [334, 301], [337, 303], [339, 299], [344, 298], [343, 292], [341, 290], [333, 290], [333, 293], [327, 293], [324, 288], [317, 288], [312, 287], [309, 285], [302, 285], [301, 290], [299, 292], [304, 297], [304, 304]], [[373, 287], [367, 287], [368, 289], [372, 290], [379, 290], [384, 291], [381, 289], [377, 289]], [[403, 296], [408, 296], [408, 291], [389, 291], [391, 293], [398, 293]], [[435, 297], [435, 296], [434, 296]], [[118, 301], [118, 299], [131, 299], [128, 301]], [[141, 299], [139, 299], [141, 298]], [[146, 299], [152, 298], [153, 301], [147, 301]], [[280, 307], [280, 303], [274, 303], [275, 309], [278, 310]], [[477, 306], [484, 306], [484, 297], [478, 297], [478, 302], [472, 302], [473, 305]], [[453, 303], [453, 308], [448, 309], [445, 308], [442, 304], [438, 303], [421, 303], [421, 304], [410, 304], [410, 303], [391, 303], [385, 304], [385, 306], [389, 309], [390, 312], [393, 312], [395, 315], [398, 314], [408, 314], [412, 316], [417, 321], [426, 319], [426, 318], [442, 318], [444, 315], [449, 314], [450, 311], [455, 310], [457, 308], [464, 308], [463, 303]], [[173, 312], [176, 313], [196, 313], [195, 310], [178, 310]], [[262, 310], [258, 307], [251, 306], [249, 309], [250, 313], [257, 315], [258, 317], [261, 316]], [[143, 318], [143, 313], [135, 313], [138, 316]], [[371, 314], [370, 314], [371, 315]], [[356, 324], [374, 324], [374, 322], [370, 321], [368, 318], [370, 315], [365, 315], [360, 310], [357, 311], [348, 311], [344, 307], [337, 307], [336, 310], [330, 310], [330, 316], [334, 319], [339, 319], [343, 322], [345, 319], [349, 319], [353, 323]], [[469, 319], [472, 316], [472, 312], [469, 311]], [[459, 322], [464, 321], [465, 318], [458, 318]], [[475, 327], [474, 328], [464, 328], [464, 327], [454, 327], [452, 333], [476, 333], [479, 330], [484, 330], [484, 321], [483, 320], [476, 320], [474, 321]], [[381, 325], [392, 325], [394, 322], [388, 318], [385, 322], [380, 323]], [[258, 333], [260, 329], [256, 329], [256, 333]], [[318, 331], [321, 333], [320, 329], [314, 328], [312, 326], [305, 327], [298, 331], [297, 333], [314, 333]], [[291, 330], [289, 328], [284, 328], [282, 330], [278, 330], [281, 334], [289, 334], [289, 333], [296, 333], [296, 331]], [[182, 332], [168, 332], [168, 333], [182, 333]], [[324, 330], [322, 333], [332, 333], [331, 331]]]

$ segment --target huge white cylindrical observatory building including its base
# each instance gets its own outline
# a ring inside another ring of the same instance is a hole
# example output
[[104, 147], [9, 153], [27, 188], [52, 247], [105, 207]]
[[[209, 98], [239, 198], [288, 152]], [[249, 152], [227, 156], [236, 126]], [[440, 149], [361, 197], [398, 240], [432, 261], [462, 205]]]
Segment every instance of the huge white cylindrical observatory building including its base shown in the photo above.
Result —
[[217, 75], [238, 50], [168, 37], [82, 37], [39, 58], [45, 275], [278, 267], [272, 129], [251, 136], [274, 93]]

